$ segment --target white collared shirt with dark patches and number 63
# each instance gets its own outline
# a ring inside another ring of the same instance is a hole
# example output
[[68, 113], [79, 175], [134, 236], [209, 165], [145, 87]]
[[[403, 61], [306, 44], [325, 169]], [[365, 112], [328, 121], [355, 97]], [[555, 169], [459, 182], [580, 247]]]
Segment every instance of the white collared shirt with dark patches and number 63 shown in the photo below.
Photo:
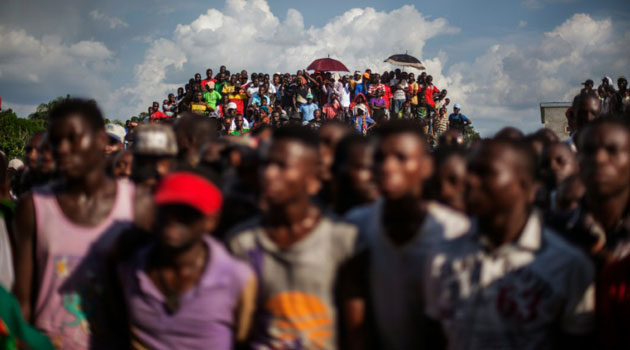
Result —
[[594, 268], [538, 212], [513, 244], [489, 250], [473, 227], [427, 266], [426, 314], [441, 321], [449, 349], [551, 349], [554, 331], [593, 329]]

